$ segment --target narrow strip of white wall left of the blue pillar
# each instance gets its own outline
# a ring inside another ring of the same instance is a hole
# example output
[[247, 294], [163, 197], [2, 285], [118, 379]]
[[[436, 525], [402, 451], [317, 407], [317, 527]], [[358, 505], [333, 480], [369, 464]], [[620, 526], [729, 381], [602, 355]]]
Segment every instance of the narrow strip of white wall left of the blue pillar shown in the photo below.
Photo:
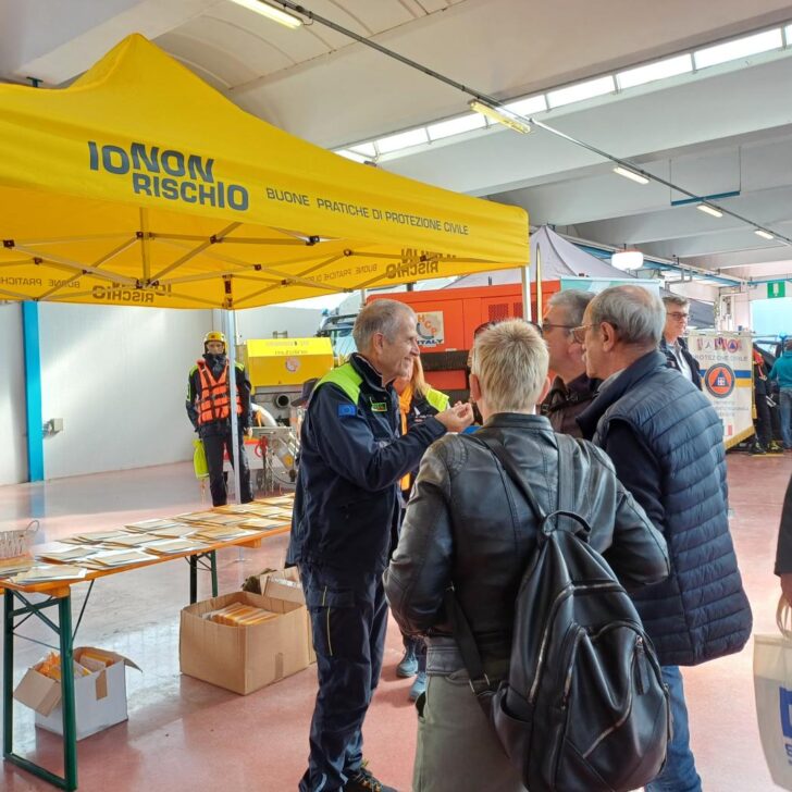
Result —
[[22, 307], [0, 305], [2, 375], [0, 375], [0, 485], [27, 480], [25, 421], [25, 364], [22, 344]]

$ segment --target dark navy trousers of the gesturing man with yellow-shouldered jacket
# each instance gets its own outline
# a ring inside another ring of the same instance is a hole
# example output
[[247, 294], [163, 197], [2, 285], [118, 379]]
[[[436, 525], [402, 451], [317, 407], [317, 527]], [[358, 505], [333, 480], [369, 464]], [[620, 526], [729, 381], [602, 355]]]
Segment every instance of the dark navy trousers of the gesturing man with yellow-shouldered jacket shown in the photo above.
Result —
[[382, 577], [300, 565], [319, 692], [301, 792], [336, 792], [363, 760], [362, 726], [380, 680], [387, 627]]

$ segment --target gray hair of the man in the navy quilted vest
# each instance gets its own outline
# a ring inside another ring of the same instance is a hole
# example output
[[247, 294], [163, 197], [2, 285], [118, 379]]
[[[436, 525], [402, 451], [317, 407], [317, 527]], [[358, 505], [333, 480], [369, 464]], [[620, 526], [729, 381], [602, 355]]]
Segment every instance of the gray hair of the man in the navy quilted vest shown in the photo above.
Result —
[[608, 322], [622, 344], [651, 347], [660, 343], [666, 307], [657, 294], [642, 286], [611, 286], [589, 305], [589, 321]]

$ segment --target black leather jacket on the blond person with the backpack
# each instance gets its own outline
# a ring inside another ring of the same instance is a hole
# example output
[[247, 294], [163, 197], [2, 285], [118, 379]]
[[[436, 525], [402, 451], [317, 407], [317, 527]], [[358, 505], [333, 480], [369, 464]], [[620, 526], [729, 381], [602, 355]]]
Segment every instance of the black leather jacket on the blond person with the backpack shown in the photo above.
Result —
[[[499, 440], [542, 507], [557, 507], [558, 446], [546, 418], [497, 414], [477, 434]], [[666, 543], [616, 479], [607, 456], [579, 441], [571, 467], [562, 474], [574, 478], [574, 510], [592, 525], [592, 545], [622, 584], [633, 590], [664, 580], [669, 573]], [[533, 512], [488, 449], [462, 435], [446, 435], [430, 447], [384, 578], [401, 630], [428, 635], [430, 670], [462, 667], [456, 652], [448, 652], [454, 642], [443, 595], [450, 583], [485, 667], [503, 666], [515, 597], [535, 537]]]

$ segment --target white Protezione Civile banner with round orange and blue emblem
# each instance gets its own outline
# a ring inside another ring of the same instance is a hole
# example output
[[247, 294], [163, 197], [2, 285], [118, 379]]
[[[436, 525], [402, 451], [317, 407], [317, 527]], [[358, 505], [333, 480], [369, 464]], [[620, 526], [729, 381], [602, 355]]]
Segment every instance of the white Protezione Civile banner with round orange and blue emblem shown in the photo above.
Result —
[[691, 331], [688, 347], [698, 361], [702, 389], [723, 422], [726, 447], [754, 433], [751, 333]]

